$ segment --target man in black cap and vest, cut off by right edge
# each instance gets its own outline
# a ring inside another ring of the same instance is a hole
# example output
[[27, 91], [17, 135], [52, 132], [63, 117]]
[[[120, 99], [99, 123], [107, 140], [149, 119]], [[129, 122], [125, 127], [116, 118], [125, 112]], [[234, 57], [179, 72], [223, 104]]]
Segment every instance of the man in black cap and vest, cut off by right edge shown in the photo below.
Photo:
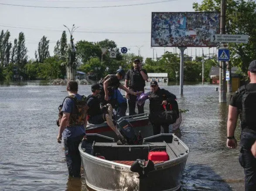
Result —
[[245, 190], [256, 191], [256, 60], [249, 64], [250, 82], [241, 86], [230, 98], [227, 122], [227, 147], [236, 148], [238, 115], [241, 120], [239, 163], [244, 168]]

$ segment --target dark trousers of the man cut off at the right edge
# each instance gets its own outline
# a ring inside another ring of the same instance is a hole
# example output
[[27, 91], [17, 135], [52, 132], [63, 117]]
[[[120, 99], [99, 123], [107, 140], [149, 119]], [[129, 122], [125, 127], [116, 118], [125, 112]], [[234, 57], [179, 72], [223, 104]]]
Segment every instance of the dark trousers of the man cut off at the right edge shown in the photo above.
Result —
[[256, 133], [241, 133], [239, 163], [244, 168], [245, 191], [256, 191], [256, 158], [251, 152], [255, 140]]

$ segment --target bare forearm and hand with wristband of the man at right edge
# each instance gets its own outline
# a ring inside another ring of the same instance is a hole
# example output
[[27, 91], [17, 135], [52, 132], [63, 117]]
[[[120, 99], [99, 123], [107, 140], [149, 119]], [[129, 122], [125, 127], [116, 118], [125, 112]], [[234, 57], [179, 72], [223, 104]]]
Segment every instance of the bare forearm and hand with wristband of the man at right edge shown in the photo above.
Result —
[[238, 109], [232, 105], [229, 105], [229, 115], [228, 115], [228, 122], [227, 122], [227, 147], [228, 148], [236, 148], [237, 142], [236, 138], [234, 137], [235, 130], [236, 130], [236, 122], [238, 118]]

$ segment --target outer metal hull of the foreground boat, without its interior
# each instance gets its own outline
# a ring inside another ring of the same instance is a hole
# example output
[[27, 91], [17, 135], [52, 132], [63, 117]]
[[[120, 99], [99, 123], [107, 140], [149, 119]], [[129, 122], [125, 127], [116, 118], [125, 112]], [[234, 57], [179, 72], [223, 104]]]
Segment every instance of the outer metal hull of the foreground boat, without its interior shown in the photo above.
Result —
[[[179, 144], [184, 145], [180, 140]], [[130, 165], [89, 155], [82, 151], [81, 145], [79, 151], [86, 184], [96, 191], [176, 191], [181, 186], [182, 173], [188, 158], [188, 147], [184, 145], [184, 148], [187, 150], [183, 155], [156, 164], [146, 178], [138, 178], [137, 172], [130, 171]]]

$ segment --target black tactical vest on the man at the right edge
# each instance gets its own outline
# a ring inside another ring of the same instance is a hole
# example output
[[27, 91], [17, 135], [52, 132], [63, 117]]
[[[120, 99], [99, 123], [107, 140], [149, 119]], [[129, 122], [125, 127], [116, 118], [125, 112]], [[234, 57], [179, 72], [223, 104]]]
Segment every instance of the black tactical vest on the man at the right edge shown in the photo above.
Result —
[[256, 131], [256, 91], [249, 91], [241, 86], [238, 92], [242, 94], [241, 127]]

